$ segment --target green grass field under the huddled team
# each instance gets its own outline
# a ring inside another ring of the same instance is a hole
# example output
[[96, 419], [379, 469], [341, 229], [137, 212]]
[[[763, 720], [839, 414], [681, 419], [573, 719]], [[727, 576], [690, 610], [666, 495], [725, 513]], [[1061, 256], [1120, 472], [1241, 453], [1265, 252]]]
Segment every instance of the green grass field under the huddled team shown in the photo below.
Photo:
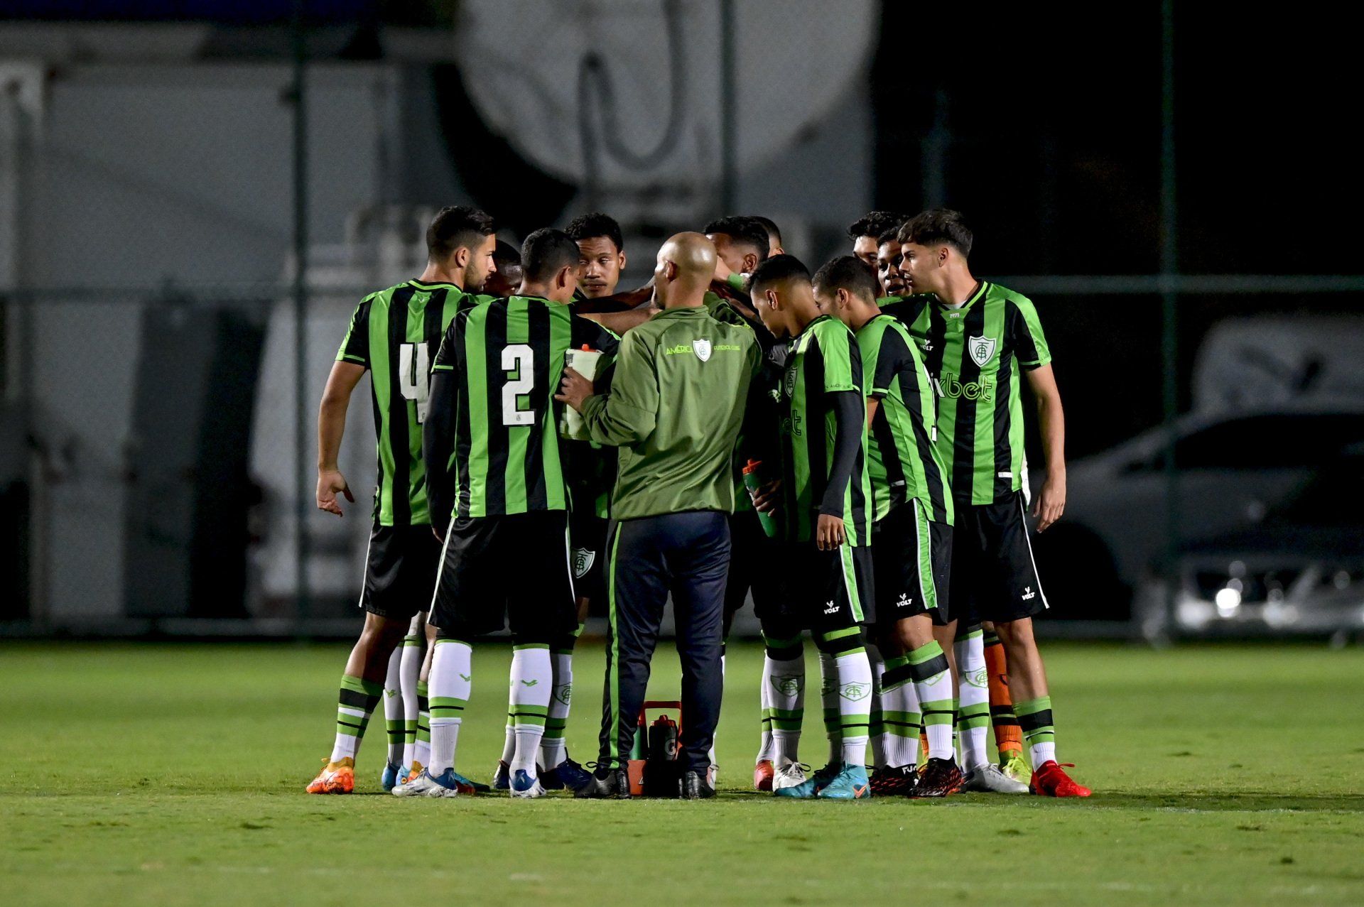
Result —
[[[1088, 801], [753, 794], [761, 649], [743, 645], [717, 799], [412, 802], [379, 794], [379, 722], [356, 795], [303, 794], [342, 646], [5, 644], [0, 903], [1364, 902], [1364, 651], [1048, 653], [1060, 754]], [[483, 779], [509, 659], [475, 652], [460, 768]], [[582, 761], [602, 667], [584, 645]], [[651, 696], [675, 696], [675, 656], [655, 670]], [[803, 752], [822, 762], [816, 724], [810, 709]]]

